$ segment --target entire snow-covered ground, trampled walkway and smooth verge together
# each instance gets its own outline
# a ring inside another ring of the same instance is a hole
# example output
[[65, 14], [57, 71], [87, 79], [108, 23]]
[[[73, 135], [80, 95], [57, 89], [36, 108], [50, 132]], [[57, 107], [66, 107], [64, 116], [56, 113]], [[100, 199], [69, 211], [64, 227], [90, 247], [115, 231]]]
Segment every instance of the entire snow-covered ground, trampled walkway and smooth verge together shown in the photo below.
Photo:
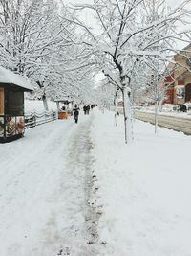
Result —
[[0, 144], [0, 255], [191, 255], [191, 137], [94, 110]]

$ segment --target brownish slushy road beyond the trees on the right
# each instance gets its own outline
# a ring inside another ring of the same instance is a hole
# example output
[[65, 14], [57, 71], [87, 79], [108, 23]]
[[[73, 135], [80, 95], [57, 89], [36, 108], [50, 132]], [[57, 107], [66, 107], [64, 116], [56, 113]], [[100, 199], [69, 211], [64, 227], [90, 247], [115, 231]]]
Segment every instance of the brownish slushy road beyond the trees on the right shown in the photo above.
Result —
[[[136, 118], [142, 121], [155, 124], [155, 114], [149, 112], [136, 112]], [[182, 131], [191, 135], [191, 118], [180, 118], [175, 116], [159, 115], [159, 126]]]

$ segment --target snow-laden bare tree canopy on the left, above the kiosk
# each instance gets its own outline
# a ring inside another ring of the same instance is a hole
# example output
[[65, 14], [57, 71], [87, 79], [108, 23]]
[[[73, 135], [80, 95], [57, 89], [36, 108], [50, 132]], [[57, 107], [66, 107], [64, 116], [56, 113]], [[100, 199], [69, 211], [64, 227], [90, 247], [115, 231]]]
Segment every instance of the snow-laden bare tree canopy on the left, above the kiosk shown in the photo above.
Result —
[[46, 107], [47, 96], [90, 95], [90, 53], [61, 16], [71, 17], [54, 0], [0, 0], [0, 65], [29, 78]]

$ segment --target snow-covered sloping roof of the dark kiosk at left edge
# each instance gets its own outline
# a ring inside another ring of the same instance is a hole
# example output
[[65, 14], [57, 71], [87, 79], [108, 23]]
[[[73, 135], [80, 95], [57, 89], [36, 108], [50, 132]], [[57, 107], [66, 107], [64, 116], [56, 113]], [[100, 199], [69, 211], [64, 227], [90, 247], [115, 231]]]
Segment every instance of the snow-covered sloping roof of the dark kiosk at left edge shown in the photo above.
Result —
[[24, 77], [14, 74], [10, 70], [0, 66], [0, 83], [14, 84], [23, 88], [25, 91], [32, 91], [32, 85]]

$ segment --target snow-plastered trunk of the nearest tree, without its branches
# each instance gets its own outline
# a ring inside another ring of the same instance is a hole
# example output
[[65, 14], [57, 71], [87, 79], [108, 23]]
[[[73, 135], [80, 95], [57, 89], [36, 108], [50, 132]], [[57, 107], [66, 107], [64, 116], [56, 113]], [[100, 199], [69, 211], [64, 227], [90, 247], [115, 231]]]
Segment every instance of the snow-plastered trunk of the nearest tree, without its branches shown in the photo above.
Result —
[[132, 109], [131, 97], [127, 87], [124, 86], [122, 90], [123, 97], [123, 116], [125, 125], [125, 143], [130, 143], [133, 140], [133, 124], [132, 124]]

